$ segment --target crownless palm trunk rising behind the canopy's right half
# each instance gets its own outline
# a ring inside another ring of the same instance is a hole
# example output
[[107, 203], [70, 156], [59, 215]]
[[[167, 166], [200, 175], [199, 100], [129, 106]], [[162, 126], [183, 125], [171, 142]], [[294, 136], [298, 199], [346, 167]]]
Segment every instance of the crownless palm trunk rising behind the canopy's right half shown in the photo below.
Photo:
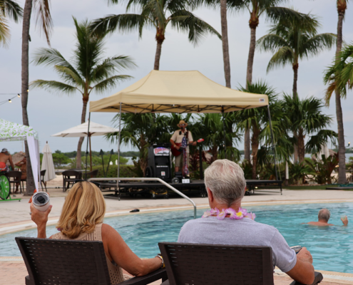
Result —
[[225, 86], [230, 88], [230, 59], [229, 59], [228, 28], [227, 28], [227, 0], [220, 0], [220, 24], [222, 26], [222, 48], [223, 48], [223, 63], [225, 68]]

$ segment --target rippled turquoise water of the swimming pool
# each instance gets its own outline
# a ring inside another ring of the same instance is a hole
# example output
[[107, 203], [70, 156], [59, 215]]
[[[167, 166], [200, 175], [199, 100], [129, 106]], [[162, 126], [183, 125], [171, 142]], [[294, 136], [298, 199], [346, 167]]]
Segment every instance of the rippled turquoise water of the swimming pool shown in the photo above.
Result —
[[[317, 212], [326, 207], [331, 211], [332, 227], [314, 227], [302, 224], [317, 221]], [[307, 247], [319, 270], [353, 273], [353, 222], [342, 227], [340, 217], [353, 217], [353, 203], [290, 204], [247, 207], [256, 213], [256, 221], [276, 227], [290, 246]], [[205, 209], [198, 209], [200, 217]], [[193, 218], [192, 210], [140, 213], [106, 218], [121, 234], [128, 246], [139, 257], [155, 257], [158, 242], [176, 242], [180, 228]], [[55, 227], [48, 227], [48, 237], [55, 234]], [[0, 236], [0, 256], [21, 256], [14, 237], [36, 237], [36, 229]]]

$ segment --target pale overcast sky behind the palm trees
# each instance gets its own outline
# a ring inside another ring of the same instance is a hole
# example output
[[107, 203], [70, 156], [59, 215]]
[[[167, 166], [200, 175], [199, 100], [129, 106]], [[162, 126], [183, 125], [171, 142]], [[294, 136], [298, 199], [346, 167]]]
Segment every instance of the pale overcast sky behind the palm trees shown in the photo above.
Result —
[[[24, 7], [24, 0], [19, 0]], [[295, 8], [302, 13], [311, 13], [319, 17], [322, 27], [319, 33], [336, 33], [337, 9], [333, 0], [292, 0], [285, 6]], [[51, 47], [56, 48], [68, 59], [73, 56], [75, 48], [75, 28], [73, 17], [78, 21], [93, 20], [108, 14], [123, 14], [126, 12], [123, 4], [108, 6], [106, 0], [61, 0], [51, 1], [51, 15], [53, 17], [53, 35]], [[197, 9], [194, 14], [208, 22], [220, 32], [219, 9]], [[230, 70], [232, 88], [245, 86], [247, 54], [250, 43], [250, 28], [248, 26], [249, 14], [247, 11], [228, 12], [228, 37], [230, 48]], [[0, 93], [21, 92], [21, 28], [22, 23], [10, 22], [11, 43], [9, 48], [0, 47]], [[353, 4], [348, 4], [348, 9], [343, 25], [343, 36], [346, 43], [353, 41]], [[260, 18], [257, 28], [257, 38], [264, 36], [269, 28], [265, 18]], [[29, 43], [30, 58], [37, 48], [48, 47], [46, 38], [40, 34], [35, 26], [35, 20], [31, 24], [31, 42]], [[146, 76], [152, 69], [155, 57], [155, 31], [145, 29], [142, 38], [137, 31], [131, 33], [113, 33], [106, 39], [106, 53], [104, 56], [124, 55], [133, 58], [138, 65], [133, 70], [123, 71], [123, 74], [133, 76], [132, 79], [120, 83], [116, 88], [102, 94], [91, 94], [90, 100], [99, 100], [130, 86], [135, 81]], [[319, 56], [300, 61], [298, 93], [300, 98], [315, 96], [324, 98], [325, 86], [322, 81], [324, 68], [332, 63], [334, 48], [323, 51]], [[292, 92], [293, 72], [291, 66], [277, 68], [266, 72], [267, 63], [271, 53], [255, 51], [253, 67], [253, 81], [265, 80], [277, 93]], [[165, 42], [160, 58], [160, 70], [163, 71], [188, 71], [198, 70], [211, 80], [225, 85], [222, 42], [216, 36], [205, 36], [198, 46], [188, 41], [188, 34], [173, 30], [168, 26], [165, 34]], [[29, 66], [29, 81], [36, 79], [59, 80], [52, 67]], [[13, 97], [12, 95], [11, 97]], [[10, 95], [0, 95], [0, 101], [7, 100]], [[46, 90], [29, 90], [29, 124], [39, 133], [40, 150], [48, 141], [51, 150], [68, 152], [77, 149], [78, 138], [53, 138], [51, 135], [66, 130], [81, 123], [82, 95], [60, 95], [49, 93]], [[342, 100], [344, 135], [346, 145], [353, 142], [353, 97], [349, 92], [347, 99]], [[324, 113], [332, 116], [331, 129], [337, 131], [337, 121], [334, 98], [329, 108], [324, 108]], [[112, 119], [114, 113], [92, 113], [91, 121], [103, 125], [114, 126]], [[21, 99], [14, 98], [12, 103], [0, 105], [0, 118], [15, 123], [22, 123]], [[86, 148], [86, 143], [83, 142]], [[22, 142], [0, 142], [0, 148], [7, 147], [9, 151], [17, 152], [24, 149]], [[116, 150], [116, 145], [111, 145], [103, 137], [92, 138], [92, 150]], [[242, 143], [238, 145], [243, 149]], [[84, 150], [84, 148], [82, 149]], [[122, 151], [131, 150], [130, 146], [122, 146]]]

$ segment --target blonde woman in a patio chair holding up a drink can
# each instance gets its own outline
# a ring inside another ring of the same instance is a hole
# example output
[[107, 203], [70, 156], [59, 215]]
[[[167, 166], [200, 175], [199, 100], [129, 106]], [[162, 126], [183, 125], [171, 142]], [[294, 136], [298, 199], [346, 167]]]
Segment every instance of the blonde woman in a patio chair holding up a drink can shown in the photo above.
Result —
[[[36, 223], [38, 237], [46, 238], [46, 222], [51, 212], [41, 212], [31, 204], [31, 219]], [[115, 229], [103, 224], [106, 202], [96, 185], [91, 182], [78, 182], [73, 185], [63, 204], [56, 228], [60, 231], [49, 239], [77, 239], [102, 241], [111, 277], [111, 284], [124, 281], [125, 269], [133, 276], [143, 276], [163, 266], [163, 259], [140, 259], [124, 242]]]

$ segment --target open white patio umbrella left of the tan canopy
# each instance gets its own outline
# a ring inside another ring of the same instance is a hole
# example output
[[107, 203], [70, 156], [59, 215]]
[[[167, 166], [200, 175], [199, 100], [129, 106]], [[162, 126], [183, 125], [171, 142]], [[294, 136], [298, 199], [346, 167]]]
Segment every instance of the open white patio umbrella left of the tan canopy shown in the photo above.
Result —
[[91, 171], [92, 171], [92, 150], [91, 150], [91, 137], [96, 135], [107, 135], [108, 133], [116, 133], [119, 130], [115, 128], [108, 127], [106, 125], [101, 125], [97, 123], [89, 123], [89, 133], [88, 133], [88, 122], [81, 125], [76, 125], [76, 127], [69, 128], [68, 130], [63, 130], [60, 133], [51, 135], [52, 137], [63, 137], [63, 138], [78, 138], [78, 137], [87, 137], [89, 141], [89, 152], [91, 160]]

